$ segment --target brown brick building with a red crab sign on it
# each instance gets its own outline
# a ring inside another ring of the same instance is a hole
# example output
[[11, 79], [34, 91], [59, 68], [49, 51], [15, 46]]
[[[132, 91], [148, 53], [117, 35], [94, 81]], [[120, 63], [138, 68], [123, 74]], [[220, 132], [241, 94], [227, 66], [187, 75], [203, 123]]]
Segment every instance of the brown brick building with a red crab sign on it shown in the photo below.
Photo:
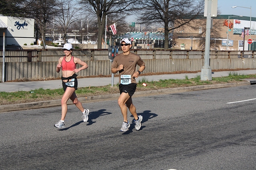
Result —
[[[248, 39], [252, 39], [250, 49], [256, 49], [256, 18], [234, 15], [212, 17], [210, 50], [243, 50], [242, 29], [246, 30], [244, 50], [249, 50]], [[250, 24], [251, 23], [251, 24]], [[174, 49], [202, 50], [205, 44], [206, 17], [191, 21], [173, 31]], [[251, 36], [250, 36], [251, 34]], [[228, 42], [228, 48], [227, 48]]]

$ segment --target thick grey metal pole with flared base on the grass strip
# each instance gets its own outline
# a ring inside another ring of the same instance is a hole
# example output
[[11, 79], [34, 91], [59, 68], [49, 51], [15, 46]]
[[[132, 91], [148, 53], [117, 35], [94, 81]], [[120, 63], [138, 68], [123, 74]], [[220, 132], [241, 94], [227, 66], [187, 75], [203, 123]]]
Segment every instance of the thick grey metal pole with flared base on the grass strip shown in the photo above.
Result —
[[206, 37], [205, 37], [205, 53], [204, 66], [201, 70], [201, 80], [212, 80], [212, 69], [209, 65], [210, 60], [210, 34], [211, 34], [211, 14], [212, 14], [212, 0], [207, 3], [207, 21], [206, 21]]

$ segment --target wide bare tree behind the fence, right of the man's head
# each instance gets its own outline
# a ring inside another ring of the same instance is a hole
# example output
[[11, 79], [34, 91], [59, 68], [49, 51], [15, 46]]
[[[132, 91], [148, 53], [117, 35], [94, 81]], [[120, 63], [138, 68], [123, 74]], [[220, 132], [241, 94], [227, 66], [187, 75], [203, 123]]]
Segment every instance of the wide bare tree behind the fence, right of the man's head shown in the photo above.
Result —
[[[168, 49], [169, 32], [202, 15], [204, 0], [138, 0], [143, 8], [140, 23], [164, 25], [164, 49]], [[174, 25], [175, 23], [175, 25]]]

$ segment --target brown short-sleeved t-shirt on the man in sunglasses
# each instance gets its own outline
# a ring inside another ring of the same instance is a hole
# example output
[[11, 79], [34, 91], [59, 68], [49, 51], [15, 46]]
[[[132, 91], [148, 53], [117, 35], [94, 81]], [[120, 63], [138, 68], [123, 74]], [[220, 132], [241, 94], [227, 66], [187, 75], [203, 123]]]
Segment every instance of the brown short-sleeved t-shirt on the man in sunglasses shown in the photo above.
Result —
[[144, 66], [145, 63], [142, 61], [139, 55], [134, 53], [130, 53], [128, 55], [124, 55], [123, 53], [116, 55], [114, 61], [112, 63], [111, 68], [118, 68], [120, 64], [124, 65], [124, 69], [119, 71], [119, 84], [121, 82], [121, 75], [131, 75], [131, 83], [136, 83], [136, 80], [132, 75], [136, 72], [136, 66]]

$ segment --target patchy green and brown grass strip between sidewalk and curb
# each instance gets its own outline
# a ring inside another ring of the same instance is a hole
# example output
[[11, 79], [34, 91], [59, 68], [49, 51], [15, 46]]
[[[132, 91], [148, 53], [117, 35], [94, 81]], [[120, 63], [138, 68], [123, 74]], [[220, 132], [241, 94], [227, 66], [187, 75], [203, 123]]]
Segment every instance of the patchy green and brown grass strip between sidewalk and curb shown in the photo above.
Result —
[[[241, 82], [242, 80], [240, 79], [247, 79], [247, 78], [256, 78], [256, 74], [240, 75], [236, 72], [230, 72], [228, 76], [212, 78], [212, 81], [201, 81], [200, 75], [191, 79], [188, 79], [188, 76], [185, 76], [184, 79], [168, 79], [168, 80], [159, 80], [159, 81], [148, 81], [144, 77], [137, 82], [138, 84], [137, 84], [136, 91], [138, 92], [138, 91], [157, 90], [157, 89], [164, 89], [164, 88]], [[143, 86], [142, 83], [146, 83], [147, 86]], [[90, 86], [90, 87], [78, 88], [78, 90], [76, 90], [76, 95], [78, 96], [78, 98], [106, 95], [106, 94], [118, 94], [118, 93], [119, 93], [118, 84], [115, 84], [113, 87], [111, 85], [97, 86], [97, 87]], [[62, 88], [54, 89], [54, 90], [39, 88], [39, 89], [35, 89], [28, 92], [27, 91], [0, 92], [0, 105], [38, 102], [38, 101], [46, 101], [46, 100], [57, 100], [57, 99], [61, 99], [63, 94], [64, 94], [64, 90]]]

